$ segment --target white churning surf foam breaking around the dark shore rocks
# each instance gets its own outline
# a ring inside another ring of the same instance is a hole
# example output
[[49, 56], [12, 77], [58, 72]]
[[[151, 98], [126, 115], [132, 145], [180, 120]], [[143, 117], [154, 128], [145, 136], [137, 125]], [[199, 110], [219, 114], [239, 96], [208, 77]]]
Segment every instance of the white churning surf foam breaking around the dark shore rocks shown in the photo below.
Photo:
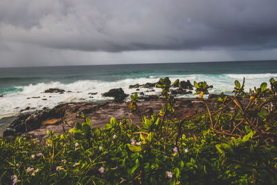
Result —
[[[232, 94], [234, 87], [234, 80], [240, 80], [242, 82], [243, 77], [245, 80], [244, 89], [253, 89], [254, 86], [259, 86], [262, 82], [268, 82], [269, 78], [276, 77], [277, 74], [264, 73], [264, 74], [193, 74], [193, 75], [171, 75], [170, 80], [172, 82], [177, 78], [179, 80], [190, 80], [193, 84], [194, 81], [206, 81], [208, 85], [213, 85], [213, 89], [209, 89], [210, 93], [220, 94], [222, 91], [226, 94]], [[38, 83], [35, 85], [28, 85], [22, 88], [22, 91], [17, 91], [9, 94], [5, 94], [1, 97], [0, 101], [0, 118], [5, 115], [17, 114], [19, 110], [25, 109], [26, 107], [34, 109], [42, 109], [43, 107], [54, 107], [59, 103], [69, 103], [78, 101], [99, 101], [99, 100], [111, 100], [112, 98], [102, 97], [101, 94], [109, 91], [109, 89], [123, 88], [126, 94], [132, 94], [136, 89], [129, 89], [129, 85], [140, 85], [145, 82], [157, 82], [159, 78], [166, 76], [151, 76], [151, 78], [128, 78], [125, 80], [118, 80], [115, 82], [105, 82], [101, 80], [80, 80], [69, 84], [61, 82], [49, 82], [49, 83]], [[49, 88], [64, 89], [64, 94], [45, 94], [42, 93]], [[154, 88], [154, 92], [146, 92], [145, 88], [141, 88], [145, 95], [160, 94], [161, 89]], [[140, 92], [137, 91], [137, 92]], [[90, 92], [97, 92], [96, 95], [90, 95]], [[37, 97], [40, 98], [30, 98]], [[91, 97], [93, 96], [93, 98]], [[193, 97], [192, 94], [184, 95], [182, 97]], [[27, 99], [29, 98], [29, 99]], [[43, 100], [46, 99], [46, 100]]]

